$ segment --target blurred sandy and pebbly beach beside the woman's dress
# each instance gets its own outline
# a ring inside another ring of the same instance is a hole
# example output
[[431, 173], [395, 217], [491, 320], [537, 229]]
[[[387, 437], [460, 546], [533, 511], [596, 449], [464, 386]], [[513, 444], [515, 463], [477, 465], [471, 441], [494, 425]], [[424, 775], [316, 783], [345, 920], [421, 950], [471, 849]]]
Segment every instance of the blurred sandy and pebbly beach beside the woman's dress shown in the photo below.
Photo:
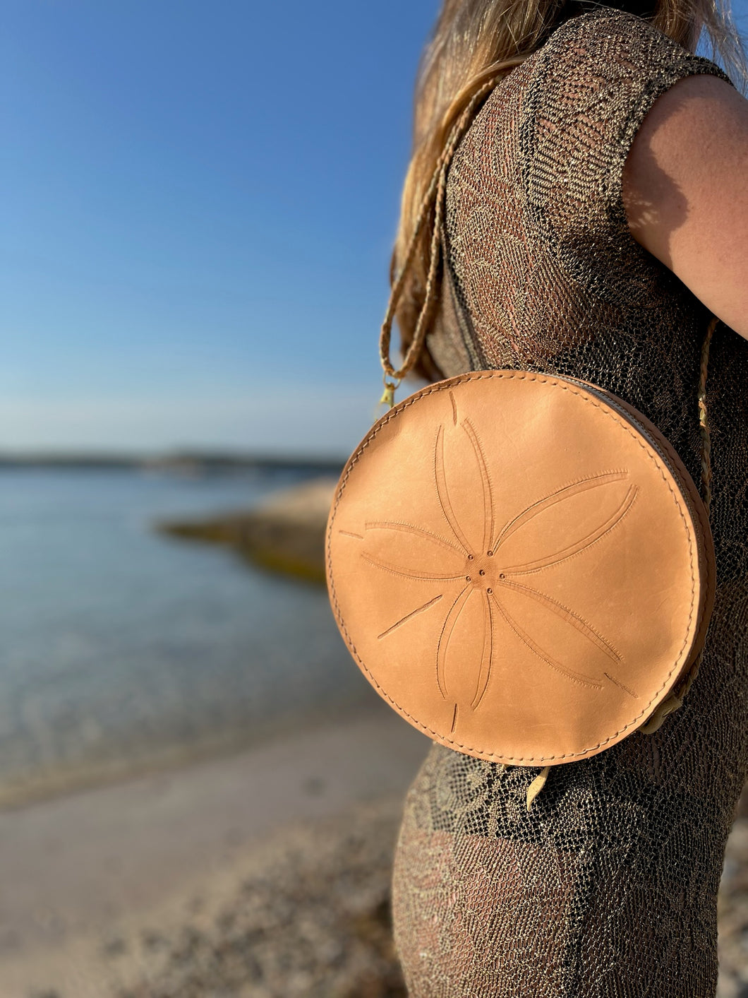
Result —
[[[2, 998], [405, 998], [389, 883], [429, 742], [378, 703], [0, 813]], [[718, 998], [745, 998], [748, 817]]]

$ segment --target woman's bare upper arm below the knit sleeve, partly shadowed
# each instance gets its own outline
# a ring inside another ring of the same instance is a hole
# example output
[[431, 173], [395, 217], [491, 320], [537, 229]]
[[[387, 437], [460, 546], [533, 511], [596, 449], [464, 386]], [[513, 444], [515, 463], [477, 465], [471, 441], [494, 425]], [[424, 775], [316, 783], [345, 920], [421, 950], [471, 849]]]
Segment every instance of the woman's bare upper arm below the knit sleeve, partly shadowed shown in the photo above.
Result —
[[748, 338], [748, 101], [715, 76], [653, 104], [623, 169], [637, 243]]

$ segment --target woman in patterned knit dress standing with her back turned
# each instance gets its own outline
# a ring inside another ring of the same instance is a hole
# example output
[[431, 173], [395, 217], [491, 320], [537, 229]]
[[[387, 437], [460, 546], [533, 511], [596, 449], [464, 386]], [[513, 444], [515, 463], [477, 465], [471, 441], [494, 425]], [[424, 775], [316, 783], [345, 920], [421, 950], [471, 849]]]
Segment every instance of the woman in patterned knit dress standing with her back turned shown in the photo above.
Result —
[[[707, 395], [718, 592], [697, 680], [655, 734], [552, 769], [532, 809], [538, 769], [433, 746], [394, 872], [412, 998], [715, 993], [715, 900], [748, 763], [748, 102], [692, 50], [705, 30], [737, 79], [730, 25], [708, 0], [445, 0], [422, 62], [393, 258], [422, 373], [594, 382], [698, 481], [699, 351], [709, 312], [721, 322]], [[403, 267], [466, 108], [444, 223]]]

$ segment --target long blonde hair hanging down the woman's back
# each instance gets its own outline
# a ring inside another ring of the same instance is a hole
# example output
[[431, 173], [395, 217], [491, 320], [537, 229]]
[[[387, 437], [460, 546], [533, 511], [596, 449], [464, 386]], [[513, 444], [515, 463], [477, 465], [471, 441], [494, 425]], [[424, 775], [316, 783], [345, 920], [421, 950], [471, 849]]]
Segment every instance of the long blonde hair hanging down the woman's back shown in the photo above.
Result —
[[[609, 3], [644, 17], [693, 51], [701, 31], [707, 48], [736, 86], [745, 86], [746, 57], [729, 0], [640, 0]], [[441, 372], [425, 343], [440, 280], [438, 226], [446, 170], [454, 148], [481, 101], [515, 66], [575, 14], [593, 6], [574, 0], [444, 0], [418, 69], [413, 148], [403, 186], [400, 223], [392, 253], [392, 296], [382, 326], [387, 375], [399, 382], [409, 370], [434, 379]], [[393, 318], [404, 359], [389, 360]]]

